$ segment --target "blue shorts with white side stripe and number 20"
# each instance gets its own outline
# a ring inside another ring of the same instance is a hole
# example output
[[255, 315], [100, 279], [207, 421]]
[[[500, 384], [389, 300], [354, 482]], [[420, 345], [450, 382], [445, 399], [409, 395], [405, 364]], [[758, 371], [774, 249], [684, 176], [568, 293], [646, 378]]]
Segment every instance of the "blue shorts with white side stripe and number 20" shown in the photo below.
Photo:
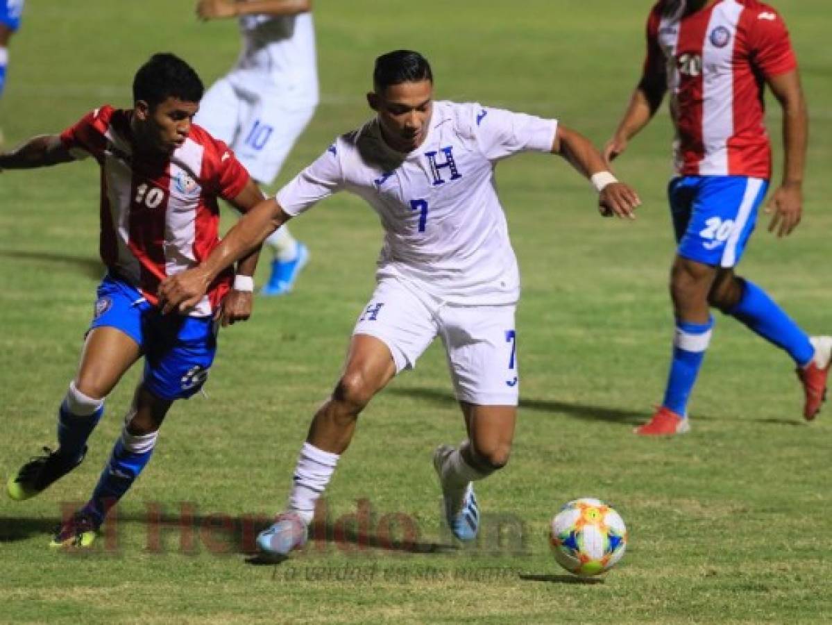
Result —
[[769, 181], [748, 176], [682, 176], [667, 186], [677, 252], [705, 265], [733, 267], [754, 231]]

